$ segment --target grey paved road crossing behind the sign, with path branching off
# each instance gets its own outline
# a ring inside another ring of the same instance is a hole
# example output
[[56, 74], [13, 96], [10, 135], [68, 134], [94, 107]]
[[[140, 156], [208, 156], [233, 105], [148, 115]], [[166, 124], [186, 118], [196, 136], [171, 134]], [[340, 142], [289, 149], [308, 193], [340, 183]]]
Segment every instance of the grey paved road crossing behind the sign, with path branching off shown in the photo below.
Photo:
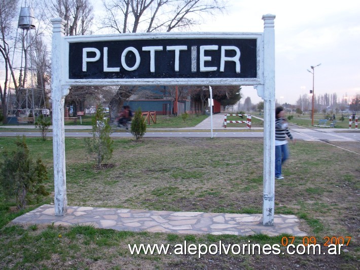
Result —
[[[255, 117], [254, 118], [259, 118]], [[261, 119], [261, 118], [259, 118]], [[148, 126], [147, 132], [144, 137], [171, 137], [171, 138], [210, 138], [210, 117], [207, 117], [204, 121], [194, 127], [185, 128], [151, 128]], [[223, 126], [224, 114], [215, 114], [212, 116], [212, 136], [215, 138], [263, 138], [264, 132], [262, 127], [253, 127], [248, 129], [242, 124], [239, 127], [227, 127]], [[9, 130], [0, 130], [0, 136], [22, 136], [25, 134], [27, 137], [39, 137], [41, 136], [39, 129], [35, 129], [33, 125], [11, 125], [1, 126]], [[16, 131], [17, 129], [21, 129]], [[25, 131], [24, 131], [25, 130]], [[86, 125], [65, 125], [65, 136], [66, 137], [89, 137], [89, 130], [91, 126]], [[291, 127], [293, 136], [297, 140], [304, 141], [338, 141], [338, 142], [359, 142], [360, 132], [355, 129], [339, 129], [339, 128], [299, 128]], [[119, 130], [119, 132], [113, 132], [112, 137], [114, 138], [131, 138], [130, 132], [125, 130]], [[48, 137], [52, 137], [52, 126]]]

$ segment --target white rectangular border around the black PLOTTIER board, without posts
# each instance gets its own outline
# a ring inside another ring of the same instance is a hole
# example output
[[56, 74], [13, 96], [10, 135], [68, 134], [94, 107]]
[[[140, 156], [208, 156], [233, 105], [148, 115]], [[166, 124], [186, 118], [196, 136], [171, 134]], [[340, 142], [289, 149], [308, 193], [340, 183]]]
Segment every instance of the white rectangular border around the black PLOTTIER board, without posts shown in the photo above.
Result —
[[64, 37], [63, 82], [68, 85], [261, 85], [263, 84], [263, 65], [257, 62], [257, 78], [154, 78], [154, 79], [69, 79], [69, 44], [79, 42], [106, 42], [106, 41], [136, 41], [136, 40], [159, 40], [162, 39], [255, 39], [257, 40], [257, 60], [263, 55], [263, 33], [122, 33], [120, 35], [94, 35], [94, 36], [70, 36]]

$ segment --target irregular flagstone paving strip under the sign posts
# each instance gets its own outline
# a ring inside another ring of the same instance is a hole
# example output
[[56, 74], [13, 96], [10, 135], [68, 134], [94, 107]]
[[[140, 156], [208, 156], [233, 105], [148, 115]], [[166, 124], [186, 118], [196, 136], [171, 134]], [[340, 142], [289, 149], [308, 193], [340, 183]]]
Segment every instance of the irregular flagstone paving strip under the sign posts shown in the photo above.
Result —
[[274, 226], [264, 226], [261, 214], [146, 211], [68, 206], [55, 216], [53, 205], [43, 205], [15, 218], [13, 224], [92, 225], [96, 228], [186, 234], [267, 234], [305, 236], [294, 215], [275, 215]]

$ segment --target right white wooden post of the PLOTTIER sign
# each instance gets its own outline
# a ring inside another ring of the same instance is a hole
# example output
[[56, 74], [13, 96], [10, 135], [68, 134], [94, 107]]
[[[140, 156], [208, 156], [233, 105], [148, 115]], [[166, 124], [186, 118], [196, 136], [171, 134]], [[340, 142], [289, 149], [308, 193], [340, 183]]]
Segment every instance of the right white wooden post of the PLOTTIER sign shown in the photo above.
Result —
[[263, 225], [274, 225], [275, 206], [275, 15], [264, 15]]

